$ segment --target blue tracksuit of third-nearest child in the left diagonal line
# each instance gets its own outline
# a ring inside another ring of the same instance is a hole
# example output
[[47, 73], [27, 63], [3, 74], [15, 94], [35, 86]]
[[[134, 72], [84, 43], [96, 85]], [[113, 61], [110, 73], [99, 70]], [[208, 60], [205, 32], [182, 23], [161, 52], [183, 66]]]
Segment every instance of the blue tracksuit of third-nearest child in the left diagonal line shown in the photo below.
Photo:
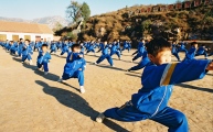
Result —
[[51, 54], [49, 52], [44, 54], [43, 51], [40, 51], [38, 56], [38, 62], [36, 62], [38, 68], [41, 68], [43, 66], [44, 72], [49, 72], [50, 59], [51, 59]]

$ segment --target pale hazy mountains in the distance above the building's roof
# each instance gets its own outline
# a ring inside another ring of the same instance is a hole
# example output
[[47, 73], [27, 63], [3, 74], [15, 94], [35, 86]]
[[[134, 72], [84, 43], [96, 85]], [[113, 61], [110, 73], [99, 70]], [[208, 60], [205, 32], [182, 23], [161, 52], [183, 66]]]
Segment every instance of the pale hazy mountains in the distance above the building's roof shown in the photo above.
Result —
[[39, 18], [39, 19], [34, 19], [34, 20], [24, 20], [24, 19], [20, 19], [20, 18], [3, 18], [3, 16], [0, 16], [0, 20], [47, 24], [51, 29], [53, 29], [55, 26], [56, 22], [60, 22], [63, 26], [68, 25], [68, 22], [60, 15]]

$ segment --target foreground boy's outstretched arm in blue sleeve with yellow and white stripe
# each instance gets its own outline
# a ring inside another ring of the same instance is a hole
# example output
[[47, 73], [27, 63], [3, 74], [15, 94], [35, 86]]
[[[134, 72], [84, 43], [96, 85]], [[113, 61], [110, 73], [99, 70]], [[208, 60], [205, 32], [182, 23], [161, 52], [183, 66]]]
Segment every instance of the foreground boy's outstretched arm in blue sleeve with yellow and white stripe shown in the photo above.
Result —
[[145, 88], [155, 89], [160, 86], [202, 79], [207, 70], [213, 70], [210, 61], [196, 61], [148, 66], [145, 68], [141, 82]]

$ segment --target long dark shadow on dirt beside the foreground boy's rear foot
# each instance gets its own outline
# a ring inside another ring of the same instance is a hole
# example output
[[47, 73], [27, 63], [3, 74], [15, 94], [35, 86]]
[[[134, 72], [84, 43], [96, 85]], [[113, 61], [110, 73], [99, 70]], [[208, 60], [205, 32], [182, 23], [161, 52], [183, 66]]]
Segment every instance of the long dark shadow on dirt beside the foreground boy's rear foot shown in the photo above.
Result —
[[[92, 120], [95, 120], [95, 118], [98, 116], [99, 112], [94, 110], [81, 96], [62, 88], [50, 87], [46, 82], [41, 80], [35, 80], [35, 82], [43, 87], [43, 91], [46, 95], [55, 97], [60, 103], [72, 108], [86, 117], [90, 117]], [[110, 120], [105, 120], [103, 123], [116, 132], [128, 132], [128, 130]]]

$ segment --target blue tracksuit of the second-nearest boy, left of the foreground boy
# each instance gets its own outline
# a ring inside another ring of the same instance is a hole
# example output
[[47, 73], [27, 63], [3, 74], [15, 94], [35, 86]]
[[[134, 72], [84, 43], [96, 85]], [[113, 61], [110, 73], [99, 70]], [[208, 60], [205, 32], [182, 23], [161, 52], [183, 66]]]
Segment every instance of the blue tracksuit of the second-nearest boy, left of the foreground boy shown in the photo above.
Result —
[[86, 61], [78, 55], [79, 53], [68, 53], [62, 79], [78, 78], [79, 86], [84, 86]]

